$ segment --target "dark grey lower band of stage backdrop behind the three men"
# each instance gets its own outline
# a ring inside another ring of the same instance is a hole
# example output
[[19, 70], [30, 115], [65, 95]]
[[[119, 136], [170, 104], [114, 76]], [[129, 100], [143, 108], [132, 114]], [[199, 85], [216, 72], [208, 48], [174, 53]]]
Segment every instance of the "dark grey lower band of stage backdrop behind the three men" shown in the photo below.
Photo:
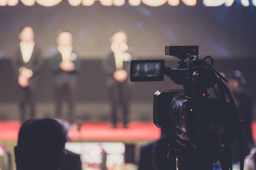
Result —
[[[141, 59], [141, 58], [139, 58]], [[178, 61], [178, 60], [177, 60]], [[166, 60], [165, 65], [171, 68], [177, 67], [176, 60]], [[232, 60], [215, 60], [214, 67], [219, 72], [227, 73], [228, 71], [238, 69], [245, 74], [247, 79], [246, 87], [256, 95], [255, 89], [255, 66], [256, 59], [232, 59]], [[45, 60], [42, 72], [38, 79], [38, 102], [53, 101], [52, 74], [49, 68], [49, 60]], [[0, 102], [16, 101], [16, 79], [11, 67], [11, 60], [0, 60]], [[158, 89], [179, 89], [181, 85], [172, 82], [165, 77], [163, 82], [133, 82], [133, 101], [150, 102], [153, 94]], [[77, 87], [78, 102], [107, 102], [107, 89], [105, 87], [105, 77], [101, 70], [101, 60], [82, 60], [81, 71], [79, 74], [79, 84]]]

